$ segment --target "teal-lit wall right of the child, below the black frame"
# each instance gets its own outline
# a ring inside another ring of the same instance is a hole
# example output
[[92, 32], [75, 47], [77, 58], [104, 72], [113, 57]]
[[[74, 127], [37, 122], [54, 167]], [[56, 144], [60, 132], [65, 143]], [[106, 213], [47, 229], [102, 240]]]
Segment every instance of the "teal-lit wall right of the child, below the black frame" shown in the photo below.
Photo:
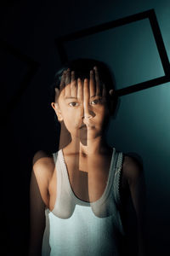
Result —
[[112, 145], [139, 154], [144, 162], [148, 239], [156, 253], [153, 255], [161, 254], [161, 250], [166, 253], [169, 242], [169, 85], [123, 96], [109, 130]]

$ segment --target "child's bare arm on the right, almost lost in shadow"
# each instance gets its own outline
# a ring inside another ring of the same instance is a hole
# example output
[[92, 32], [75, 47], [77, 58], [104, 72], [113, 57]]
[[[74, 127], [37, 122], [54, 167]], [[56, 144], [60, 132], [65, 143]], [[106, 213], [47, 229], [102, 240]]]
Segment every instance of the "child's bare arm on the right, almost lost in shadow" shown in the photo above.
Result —
[[130, 194], [133, 201], [133, 207], [137, 216], [138, 224], [138, 256], [146, 255], [145, 248], [145, 183], [144, 172], [139, 162], [132, 157], [125, 156], [123, 163], [123, 172], [127, 180]]

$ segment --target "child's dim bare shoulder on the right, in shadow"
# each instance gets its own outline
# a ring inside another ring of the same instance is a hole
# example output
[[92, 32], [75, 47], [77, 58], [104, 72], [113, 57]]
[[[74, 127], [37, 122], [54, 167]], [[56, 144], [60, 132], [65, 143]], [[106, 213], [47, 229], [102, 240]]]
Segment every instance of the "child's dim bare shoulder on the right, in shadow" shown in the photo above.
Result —
[[136, 157], [125, 154], [122, 172], [127, 183], [135, 183], [143, 176], [143, 165]]

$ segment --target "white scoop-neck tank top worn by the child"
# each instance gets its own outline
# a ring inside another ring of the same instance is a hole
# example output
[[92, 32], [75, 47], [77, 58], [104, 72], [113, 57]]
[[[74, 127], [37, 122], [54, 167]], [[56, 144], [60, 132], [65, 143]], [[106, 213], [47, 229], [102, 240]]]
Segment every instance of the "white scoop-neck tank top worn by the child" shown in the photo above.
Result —
[[123, 154], [113, 148], [105, 191], [98, 201], [82, 201], [71, 189], [62, 149], [54, 154], [57, 198], [46, 214], [42, 256], [120, 255], [122, 221], [119, 181]]

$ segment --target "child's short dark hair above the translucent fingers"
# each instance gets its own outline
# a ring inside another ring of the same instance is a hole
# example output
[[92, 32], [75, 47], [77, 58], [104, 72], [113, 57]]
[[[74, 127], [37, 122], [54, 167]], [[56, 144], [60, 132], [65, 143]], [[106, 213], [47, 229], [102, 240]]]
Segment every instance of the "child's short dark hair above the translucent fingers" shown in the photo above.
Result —
[[[110, 68], [103, 62], [94, 59], [79, 58], [73, 61], [67, 61], [63, 67], [59, 68], [54, 76], [54, 84], [51, 87], [51, 102], [55, 101], [55, 88], [59, 89], [59, 84], [61, 82], [61, 77], [64, 70], [70, 68], [75, 71], [76, 79], [89, 79], [90, 70], [94, 69], [94, 66], [98, 67], [99, 78], [105, 84], [106, 91], [114, 89], [115, 79], [114, 75], [111, 73]], [[109, 93], [108, 93], [109, 94]]]

